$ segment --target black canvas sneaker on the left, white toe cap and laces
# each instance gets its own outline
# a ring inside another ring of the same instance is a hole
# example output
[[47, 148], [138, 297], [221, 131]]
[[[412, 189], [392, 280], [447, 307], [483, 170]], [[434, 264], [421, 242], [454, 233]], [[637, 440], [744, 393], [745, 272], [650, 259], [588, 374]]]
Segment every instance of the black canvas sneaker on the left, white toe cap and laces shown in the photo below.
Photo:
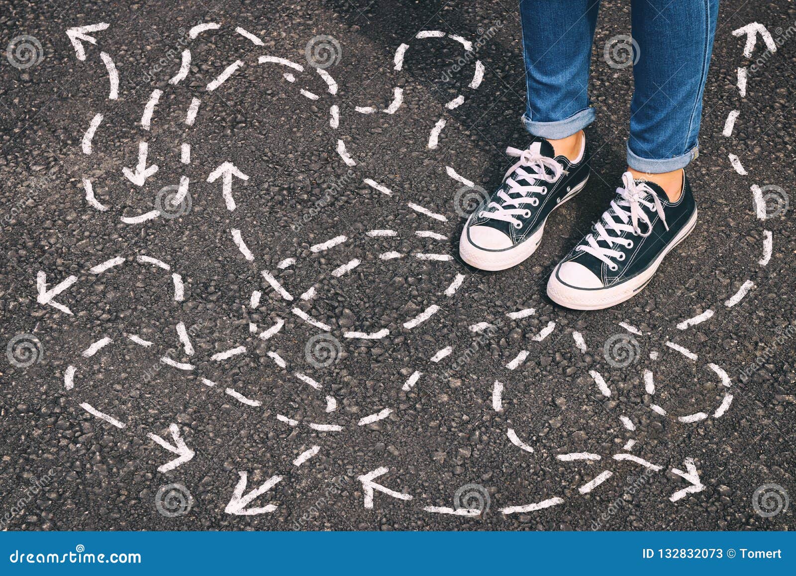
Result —
[[527, 150], [509, 147], [517, 158], [494, 194], [470, 214], [458, 243], [462, 260], [482, 270], [504, 270], [533, 254], [544, 222], [575, 196], [589, 178], [586, 142], [576, 162], [553, 157], [552, 144], [535, 138]]

